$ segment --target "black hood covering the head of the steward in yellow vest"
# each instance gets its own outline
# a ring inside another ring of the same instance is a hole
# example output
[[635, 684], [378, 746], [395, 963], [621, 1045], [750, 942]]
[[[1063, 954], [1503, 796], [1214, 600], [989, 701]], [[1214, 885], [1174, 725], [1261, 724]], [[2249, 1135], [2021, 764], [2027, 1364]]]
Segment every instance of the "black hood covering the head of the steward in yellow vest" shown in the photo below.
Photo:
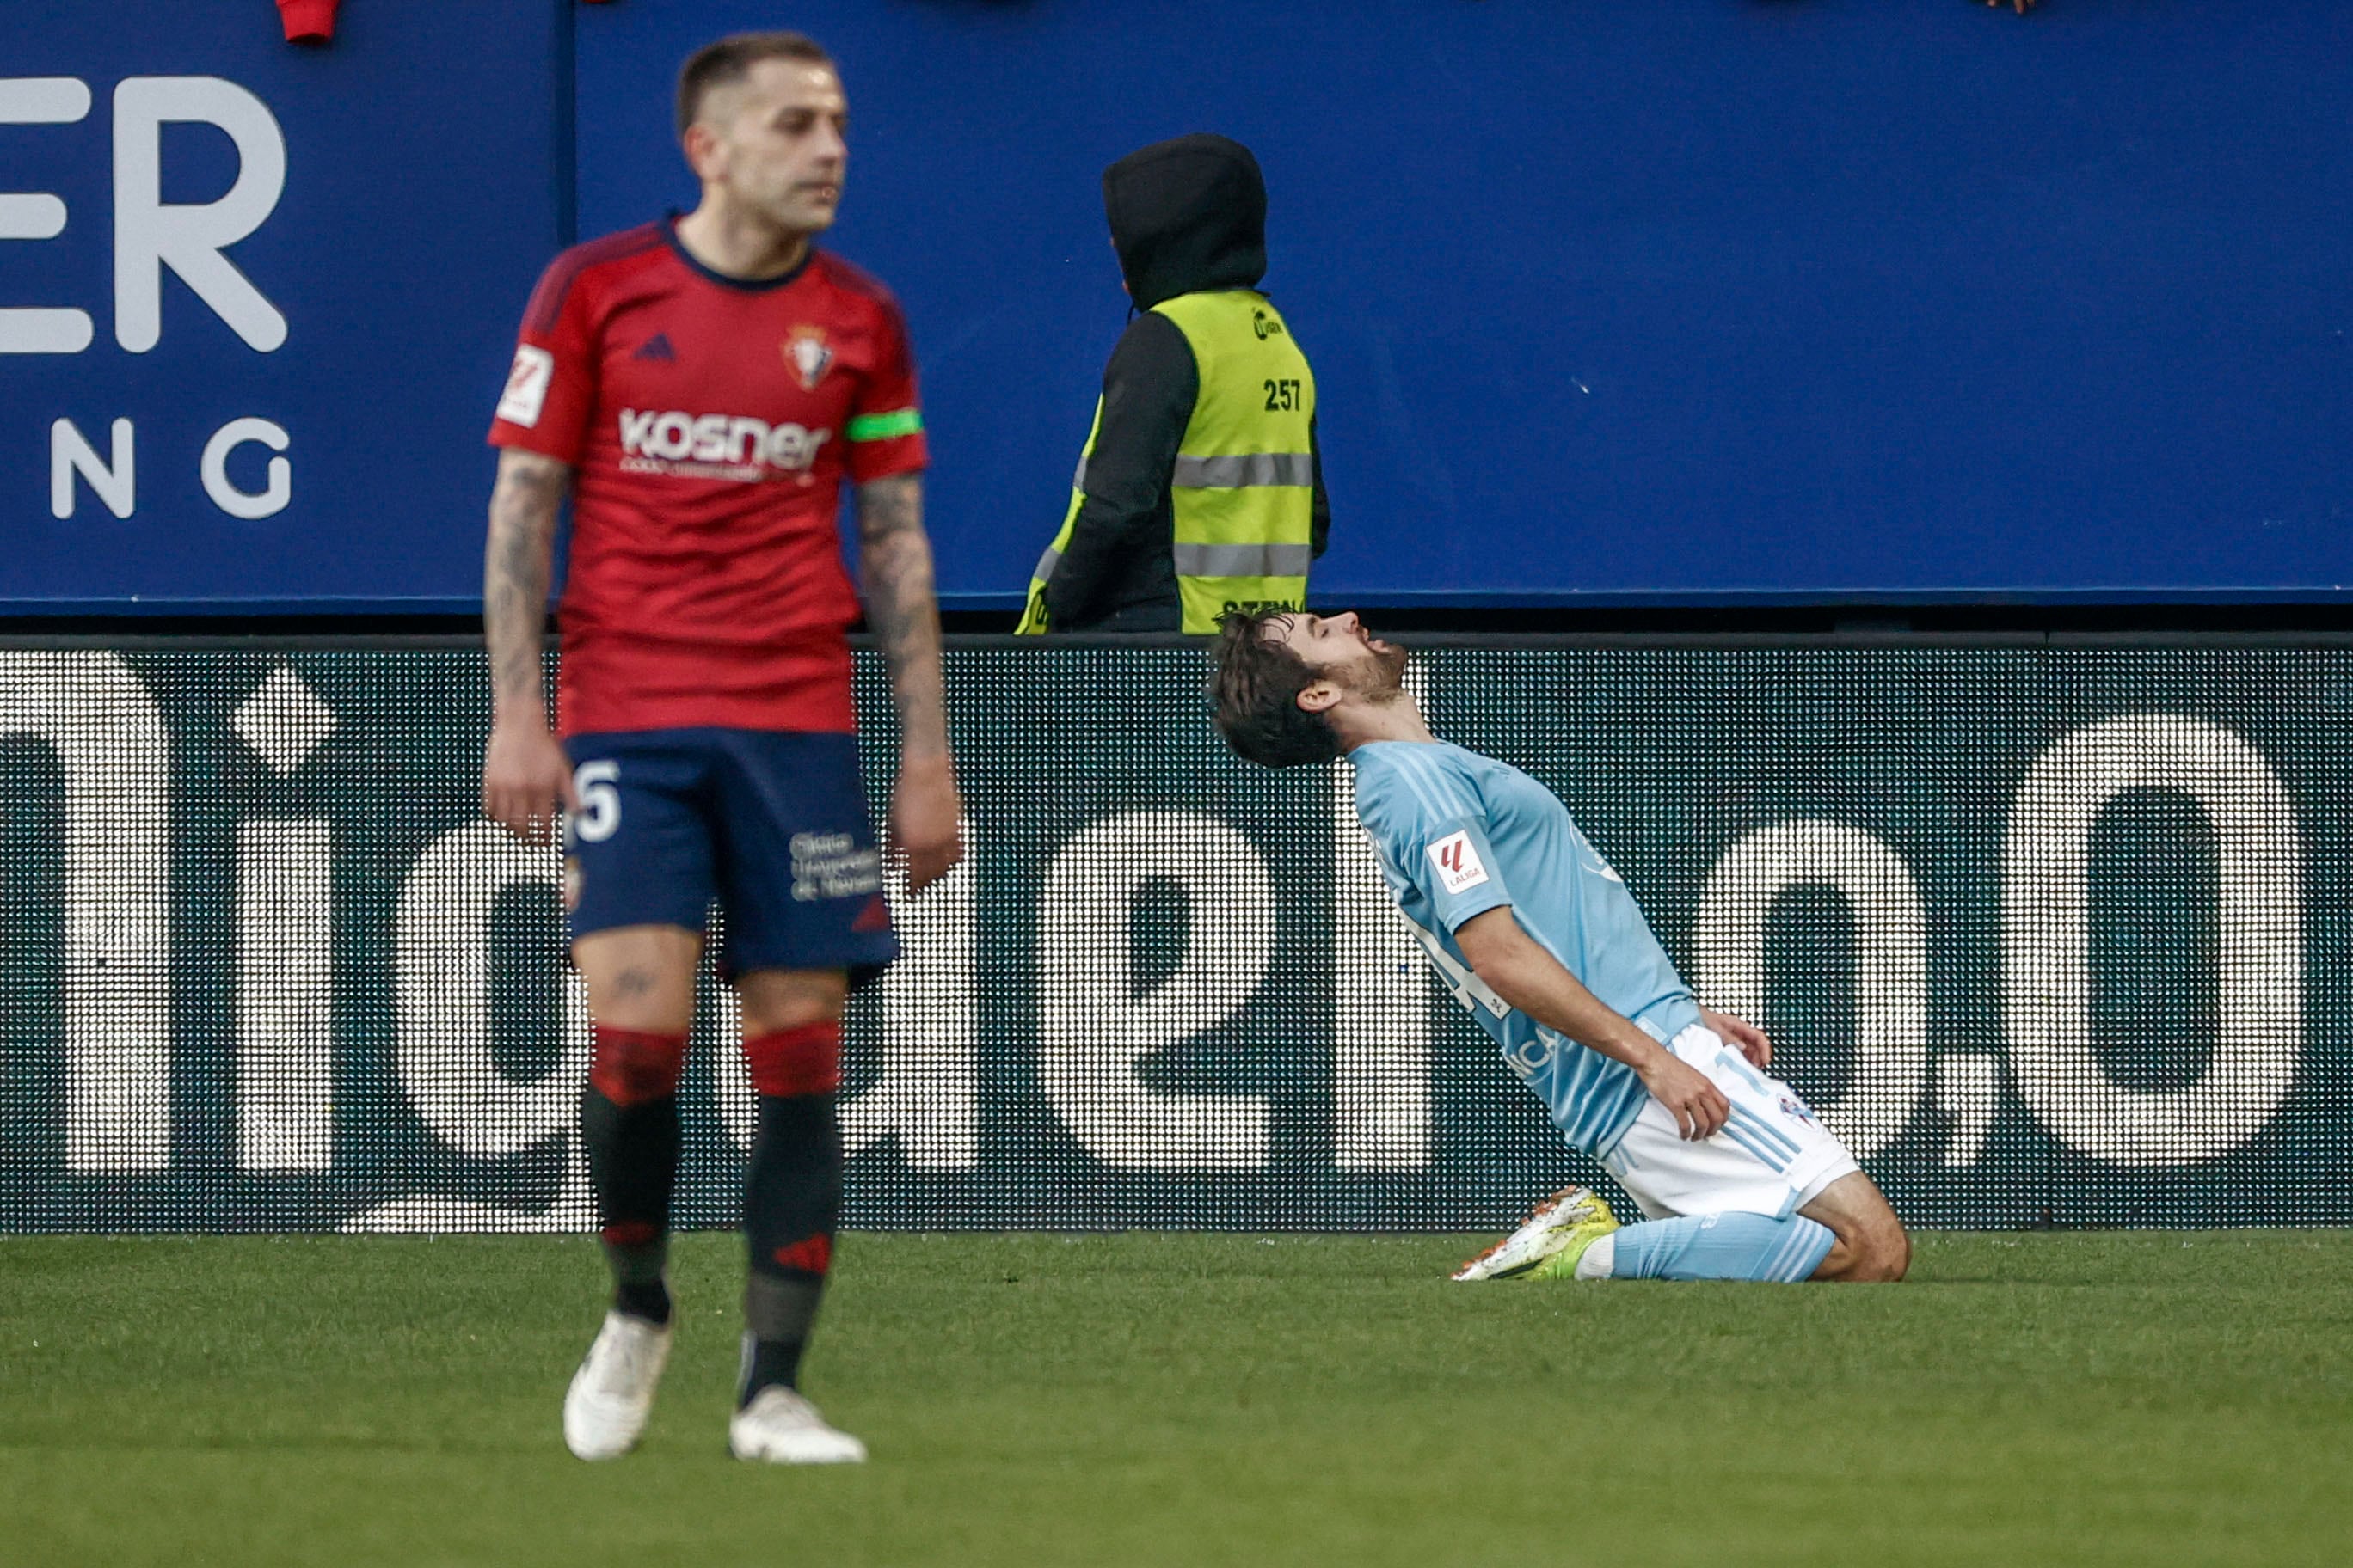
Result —
[[1266, 277], [1266, 179], [1240, 141], [1155, 141], [1104, 169], [1104, 216], [1136, 310]]

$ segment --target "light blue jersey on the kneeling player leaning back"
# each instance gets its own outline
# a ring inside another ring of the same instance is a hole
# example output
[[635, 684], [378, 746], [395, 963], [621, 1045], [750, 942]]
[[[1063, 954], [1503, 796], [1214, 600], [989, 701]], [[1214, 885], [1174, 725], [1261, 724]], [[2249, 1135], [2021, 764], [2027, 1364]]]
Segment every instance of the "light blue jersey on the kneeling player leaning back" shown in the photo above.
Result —
[[1381, 877], [1431, 961], [1504, 1048], [1574, 1147], [1607, 1154], [1642, 1110], [1633, 1067], [1588, 1051], [1508, 1006], [1471, 973], [1454, 931], [1511, 905], [1520, 926], [1586, 990], [1661, 1041], [1699, 1023], [1633, 893], [1569, 820], [1567, 806], [1515, 766], [1459, 745], [1374, 741], [1348, 752], [1355, 813]]

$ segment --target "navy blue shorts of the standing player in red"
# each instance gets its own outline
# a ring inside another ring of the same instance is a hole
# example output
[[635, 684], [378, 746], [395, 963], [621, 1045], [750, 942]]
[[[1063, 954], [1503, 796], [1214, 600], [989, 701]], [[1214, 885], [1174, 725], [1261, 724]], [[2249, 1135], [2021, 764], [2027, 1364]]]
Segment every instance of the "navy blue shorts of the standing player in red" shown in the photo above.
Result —
[[614, 926], [701, 931], [725, 912], [720, 973], [899, 957], [859, 741], [762, 729], [569, 736], [581, 809], [565, 818], [572, 940]]

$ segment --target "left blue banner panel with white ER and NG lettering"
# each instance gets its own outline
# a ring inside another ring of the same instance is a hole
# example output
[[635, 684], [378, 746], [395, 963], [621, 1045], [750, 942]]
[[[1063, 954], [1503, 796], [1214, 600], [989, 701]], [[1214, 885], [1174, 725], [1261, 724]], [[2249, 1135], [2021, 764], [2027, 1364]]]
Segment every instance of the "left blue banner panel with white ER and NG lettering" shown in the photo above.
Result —
[[482, 592], [489, 407], [567, 221], [567, 7], [35, 0], [0, 54], [0, 609]]

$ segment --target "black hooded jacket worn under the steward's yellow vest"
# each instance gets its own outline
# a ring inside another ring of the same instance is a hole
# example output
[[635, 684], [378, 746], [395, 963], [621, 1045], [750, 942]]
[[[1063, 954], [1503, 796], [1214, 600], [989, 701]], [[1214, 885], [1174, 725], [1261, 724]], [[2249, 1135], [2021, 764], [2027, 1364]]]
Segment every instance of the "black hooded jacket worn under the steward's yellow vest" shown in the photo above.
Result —
[[[1136, 317], [1104, 367], [1104, 423], [1087, 458], [1087, 501], [1045, 588], [1056, 632], [1174, 632], [1176, 515], [1169, 473], [1200, 397], [1200, 369], [1176, 322], [1153, 306], [1179, 294], [1254, 289], [1266, 275], [1266, 181], [1226, 136], [1179, 136], [1104, 169], [1104, 214]], [[1315, 451], [1313, 425], [1308, 449]], [[1315, 555], [1332, 510], [1315, 456]]]

